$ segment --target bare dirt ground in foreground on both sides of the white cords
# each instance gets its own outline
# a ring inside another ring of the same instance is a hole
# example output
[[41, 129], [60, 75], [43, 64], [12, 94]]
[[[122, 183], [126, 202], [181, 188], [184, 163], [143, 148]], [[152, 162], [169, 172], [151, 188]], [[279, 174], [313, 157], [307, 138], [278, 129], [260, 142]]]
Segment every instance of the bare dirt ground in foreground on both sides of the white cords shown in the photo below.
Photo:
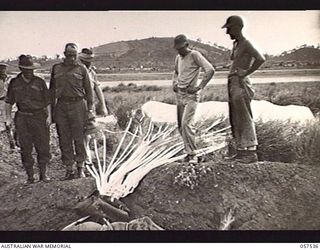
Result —
[[[0, 230], [61, 230], [81, 218], [74, 207], [95, 190], [92, 177], [64, 181], [52, 137], [52, 182], [24, 184], [18, 150], [0, 135]], [[231, 230], [318, 230], [319, 166], [259, 162], [235, 164], [210, 157], [195, 166], [151, 171], [122, 201], [131, 219], [149, 216], [167, 230], [215, 230], [231, 214]]]

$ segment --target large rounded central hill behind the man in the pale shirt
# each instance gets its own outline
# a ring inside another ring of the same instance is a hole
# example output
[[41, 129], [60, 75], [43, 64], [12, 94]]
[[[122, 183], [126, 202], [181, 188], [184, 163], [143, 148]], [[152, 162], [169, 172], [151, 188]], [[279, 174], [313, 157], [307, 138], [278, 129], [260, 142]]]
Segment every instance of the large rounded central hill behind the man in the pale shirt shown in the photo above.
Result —
[[[190, 46], [200, 51], [213, 65], [228, 62], [230, 51], [222, 46], [190, 41]], [[120, 41], [93, 48], [97, 68], [154, 68], [172, 69], [177, 52], [173, 38], [147, 38]]]

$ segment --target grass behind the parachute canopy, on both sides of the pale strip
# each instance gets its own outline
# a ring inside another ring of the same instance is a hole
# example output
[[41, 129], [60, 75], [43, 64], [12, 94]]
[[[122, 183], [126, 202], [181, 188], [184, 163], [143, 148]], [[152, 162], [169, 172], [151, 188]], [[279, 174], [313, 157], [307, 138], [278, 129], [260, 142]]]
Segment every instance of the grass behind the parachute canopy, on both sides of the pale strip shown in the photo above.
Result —
[[[227, 71], [218, 71], [215, 78], [226, 78]], [[292, 70], [261, 70], [253, 76], [285, 76], [295, 78], [299, 76], [319, 76], [320, 69], [292, 69]], [[126, 73], [99, 75], [102, 81], [145, 81], [145, 80], [169, 80], [172, 73]], [[266, 80], [268, 81], [268, 80]], [[319, 82], [270, 82], [254, 84], [256, 94], [254, 99], [267, 100], [278, 105], [304, 105], [312, 112], [320, 110], [320, 84]], [[156, 100], [173, 104], [174, 93], [171, 87], [136, 86], [136, 84], [118, 85], [118, 87], [106, 87], [105, 98], [109, 109], [115, 112], [117, 109], [138, 108], [148, 100]], [[227, 101], [226, 84], [210, 84], [202, 92], [201, 101]]]

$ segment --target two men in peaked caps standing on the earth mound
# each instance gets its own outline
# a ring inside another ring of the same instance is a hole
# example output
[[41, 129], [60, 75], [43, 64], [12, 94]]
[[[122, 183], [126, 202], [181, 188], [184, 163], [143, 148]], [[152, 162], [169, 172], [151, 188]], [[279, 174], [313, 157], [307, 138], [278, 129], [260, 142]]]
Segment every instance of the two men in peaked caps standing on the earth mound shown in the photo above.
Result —
[[[243, 36], [241, 17], [230, 16], [222, 28], [226, 28], [226, 33], [234, 40], [232, 65], [228, 75], [228, 104], [236, 150], [230, 151], [225, 159], [253, 163], [258, 161], [258, 141], [250, 106], [254, 91], [248, 75], [256, 71], [265, 59]], [[197, 163], [193, 118], [199, 94], [214, 75], [214, 68], [199, 52], [190, 49], [188, 45], [185, 35], [179, 35], [174, 40], [174, 48], [178, 55], [173, 74], [173, 91], [176, 93], [178, 128], [187, 153], [185, 161]], [[203, 69], [204, 76], [198, 85], [200, 69]]]

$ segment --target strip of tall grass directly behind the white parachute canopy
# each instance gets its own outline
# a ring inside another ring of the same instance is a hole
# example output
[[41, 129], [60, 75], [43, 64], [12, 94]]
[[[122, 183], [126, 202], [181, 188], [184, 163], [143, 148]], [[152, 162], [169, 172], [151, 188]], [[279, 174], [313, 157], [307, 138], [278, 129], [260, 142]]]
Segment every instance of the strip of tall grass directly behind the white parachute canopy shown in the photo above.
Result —
[[[304, 105], [313, 113], [320, 111], [319, 82], [256, 84], [254, 88], [256, 100], [267, 100], [277, 105]], [[108, 108], [112, 112], [120, 107], [135, 109], [148, 100], [175, 103], [175, 96], [170, 87], [120, 85], [106, 88], [104, 94]], [[207, 86], [201, 94], [201, 101], [227, 101], [227, 86]]]

